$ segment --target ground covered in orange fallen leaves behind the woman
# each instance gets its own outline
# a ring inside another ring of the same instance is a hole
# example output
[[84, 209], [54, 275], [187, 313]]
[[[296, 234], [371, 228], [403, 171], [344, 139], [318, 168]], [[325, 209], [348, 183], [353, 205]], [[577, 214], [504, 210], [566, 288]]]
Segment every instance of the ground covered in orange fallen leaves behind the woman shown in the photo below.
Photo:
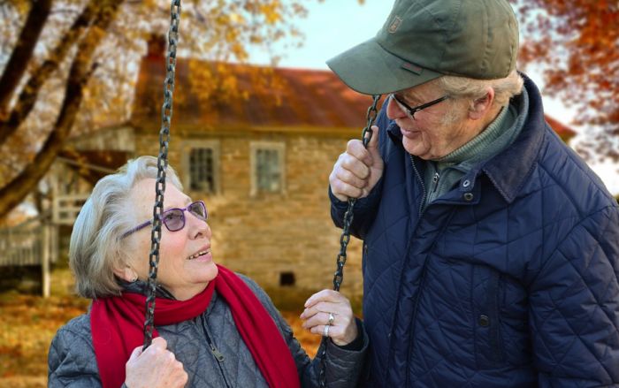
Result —
[[[47, 386], [47, 352], [57, 329], [83, 314], [88, 300], [71, 295], [68, 270], [52, 275], [52, 296], [47, 299], [16, 292], [0, 293], [0, 388]], [[320, 337], [301, 328], [301, 311], [282, 311], [295, 336], [310, 356]]]

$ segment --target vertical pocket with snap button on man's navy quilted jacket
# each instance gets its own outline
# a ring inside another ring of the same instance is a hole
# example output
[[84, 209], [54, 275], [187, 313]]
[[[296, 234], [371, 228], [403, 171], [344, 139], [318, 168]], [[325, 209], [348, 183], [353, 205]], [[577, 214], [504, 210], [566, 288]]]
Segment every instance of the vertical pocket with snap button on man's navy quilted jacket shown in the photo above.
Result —
[[473, 313], [475, 354], [479, 369], [505, 361], [501, 337], [501, 273], [487, 266], [474, 268]]

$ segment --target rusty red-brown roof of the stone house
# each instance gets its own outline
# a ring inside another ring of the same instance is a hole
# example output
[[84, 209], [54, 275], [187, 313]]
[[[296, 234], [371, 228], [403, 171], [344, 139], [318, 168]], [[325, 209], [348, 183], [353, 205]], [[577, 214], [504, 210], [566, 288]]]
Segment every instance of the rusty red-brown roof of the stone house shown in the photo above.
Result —
[[[203, 72], [211, 72], [204, 76]], [[228, 95], [221, 89], [203, 95], [218, 73], [233, 74], [240, 91]], [[269, 87], [273, 77], [279, 86]], [[163, 101], [164, 57], [149, 52], [141, 62], [131, 122], [138, 128], [157, 123]], [[201, 130], [224, 127], [363, 128], [371, 97], [348, 88], [326, 70], [265, 68], [252, 65], [211, 63], [180, 58], [176, 66], [173, 126]], [[564, 141], [576, 133], [554, 118], [546, 121]]]

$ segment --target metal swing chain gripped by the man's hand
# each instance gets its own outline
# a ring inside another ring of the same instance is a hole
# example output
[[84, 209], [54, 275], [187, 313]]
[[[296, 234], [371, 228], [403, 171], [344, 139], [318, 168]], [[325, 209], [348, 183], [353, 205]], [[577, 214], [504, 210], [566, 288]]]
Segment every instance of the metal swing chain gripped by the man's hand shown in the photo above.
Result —
[[[380, 95], [372, 95], [372, 104], [370, 108], [368, 108], [366, 114], [366, 125], [363, 128], [363, 133], [361, 134], [361, 138], [363, 139], [363, 147], [368, 148], [368, 143], [371, 140], [372, 129], [371, 126], [374, 124], [374, 120], [378, 115], [377, 105], [380, 100]], [[340, 291], [341, 282], [344, 280], [344, 265], [346, 264], [346, 249], [348, 247], [348, 242], [350, 241], [350, 225], [353, 223], [353, 208], [355, 207], [356, 198], [348, 198], [348, 208], [346, 209], [346, 213], [344, 213], [344, 226], [342, 228], [341, 236], [340, 236], [340, 253], [336, 259], [337, 269], [333, 274], [333, 290]], [[326, 340], [328, 337], [323, 336], [322, 341], [320, 342], [320, 375], [319, 382], [320, 388], [325, 388], [326, 386]]]

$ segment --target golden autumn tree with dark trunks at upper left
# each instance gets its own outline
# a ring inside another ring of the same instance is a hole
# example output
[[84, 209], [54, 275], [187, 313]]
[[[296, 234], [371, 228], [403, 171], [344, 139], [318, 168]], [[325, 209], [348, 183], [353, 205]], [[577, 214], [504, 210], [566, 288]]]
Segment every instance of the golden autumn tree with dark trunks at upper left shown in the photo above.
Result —
[[[0, 217], [33, 191], [70, 136], [127, 118], [136, 64], [152, 34], [167, 34], [170, 4], [0, 1]], [[244, 62], [252, 45], [271, 52], [283, 39], [300, 42], [294, 18], [305, 9], [294, 0], [181, 4], [182, 57]]]

